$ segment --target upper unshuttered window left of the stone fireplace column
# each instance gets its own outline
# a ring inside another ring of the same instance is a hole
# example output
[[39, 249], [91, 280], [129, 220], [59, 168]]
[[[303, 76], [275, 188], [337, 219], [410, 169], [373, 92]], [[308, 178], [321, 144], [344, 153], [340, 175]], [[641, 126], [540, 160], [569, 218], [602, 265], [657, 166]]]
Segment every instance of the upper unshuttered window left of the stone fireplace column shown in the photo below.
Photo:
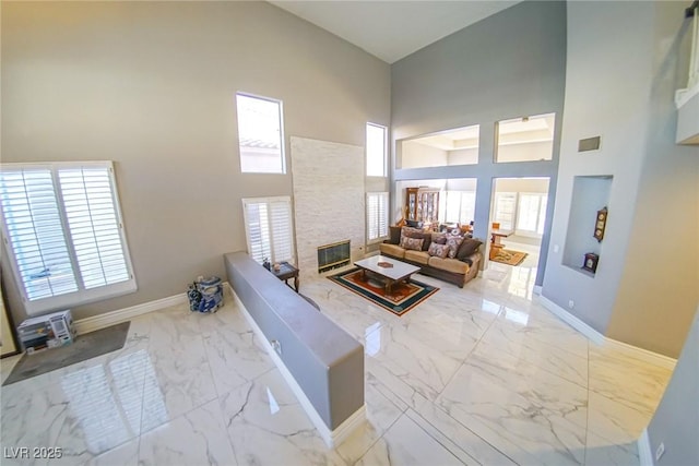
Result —
[[236, 94], [240, 170], [284, 174], [282, 101]]

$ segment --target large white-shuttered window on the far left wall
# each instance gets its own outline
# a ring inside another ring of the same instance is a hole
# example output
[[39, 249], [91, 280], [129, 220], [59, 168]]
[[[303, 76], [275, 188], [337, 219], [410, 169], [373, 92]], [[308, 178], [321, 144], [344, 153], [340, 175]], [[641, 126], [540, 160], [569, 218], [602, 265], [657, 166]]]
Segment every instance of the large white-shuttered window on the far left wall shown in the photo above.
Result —
[[110, 162], [3, 164], [0, 201], [28, 314], [137, 289]]

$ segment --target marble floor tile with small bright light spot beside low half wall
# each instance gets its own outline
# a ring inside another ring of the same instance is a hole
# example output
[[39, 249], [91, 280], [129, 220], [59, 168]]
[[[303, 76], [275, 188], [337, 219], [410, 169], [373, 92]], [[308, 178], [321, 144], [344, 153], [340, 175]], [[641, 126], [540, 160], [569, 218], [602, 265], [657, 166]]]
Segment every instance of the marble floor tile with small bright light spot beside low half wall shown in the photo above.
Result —
[[238, 464], [344, 465], [328, 450], [277, 369], [220, 398]]

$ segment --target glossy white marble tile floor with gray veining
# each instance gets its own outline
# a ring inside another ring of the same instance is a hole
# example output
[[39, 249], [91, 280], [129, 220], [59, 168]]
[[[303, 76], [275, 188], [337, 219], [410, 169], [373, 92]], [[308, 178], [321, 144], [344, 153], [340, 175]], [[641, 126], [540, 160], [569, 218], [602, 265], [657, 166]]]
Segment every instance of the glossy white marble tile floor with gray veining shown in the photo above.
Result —
[[440, 290], [402, 318], [304, 279], [365, 346], [368, 421], [334, 450], [227, 297], [133, 319], [121, 350], [2, 387], [1, 464], [638, 465], [671, 372], [567, 326], [535, 273], [494, 263], [463, 289], [417, 276]]

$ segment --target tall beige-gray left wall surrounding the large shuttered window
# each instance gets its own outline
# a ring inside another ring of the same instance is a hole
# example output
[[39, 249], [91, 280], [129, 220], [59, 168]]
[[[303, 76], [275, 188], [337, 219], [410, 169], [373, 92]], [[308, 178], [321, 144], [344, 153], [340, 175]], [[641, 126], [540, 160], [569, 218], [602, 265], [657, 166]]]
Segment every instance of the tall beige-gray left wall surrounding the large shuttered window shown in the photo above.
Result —
[[[390, 123], [387, 63], [265, 2], [2, 2], [1, 34], [2, 160], [115, 160], [139, 290], [76, 319], [225, 276], [240, 199], [293, 194], [289, 136]], [[237, 91], [284, 101], [287, 175], [240, 174]]]

